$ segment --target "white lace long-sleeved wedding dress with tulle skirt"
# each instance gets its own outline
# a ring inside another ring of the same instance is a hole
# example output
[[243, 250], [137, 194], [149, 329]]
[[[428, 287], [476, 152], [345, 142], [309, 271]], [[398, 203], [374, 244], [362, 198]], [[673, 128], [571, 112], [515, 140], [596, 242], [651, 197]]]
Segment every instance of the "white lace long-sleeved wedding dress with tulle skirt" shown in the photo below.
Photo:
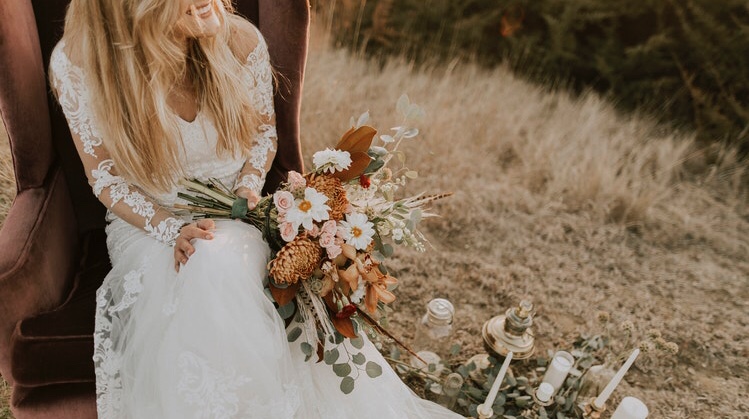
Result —
[[[257, 30], [256, 30], [257, 31]], [[260, 191], [275, 153], [271, 68], [260, 35], [247, 57], [248, 92], [267, 123], [246, 159], [219, 158], [209, 115], [178, 119], [187, 175]], [[260, 232], [218, 221], [179, 273], [173, 243], [183, 220], [168, 194], [147, 196], [117, 175], [89, 107], [83, 71], [55, 48], [50, 69], [94, 194], [109, 208], [112, 271], [97, 292], [94, 332], [101, 418], [438, 418], [459, 417], [414, 395], [366, 342], [383, 374], [366, 374], [344, 395], [324, 363], [305, 361], [263, 291], [270, 250]]]

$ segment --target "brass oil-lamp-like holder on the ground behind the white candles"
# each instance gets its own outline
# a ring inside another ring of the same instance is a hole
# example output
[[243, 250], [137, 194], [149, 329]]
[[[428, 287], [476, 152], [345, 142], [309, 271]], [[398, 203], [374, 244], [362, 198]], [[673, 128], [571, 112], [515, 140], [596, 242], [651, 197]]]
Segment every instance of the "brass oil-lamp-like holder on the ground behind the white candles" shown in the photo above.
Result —
[[535, 351], [533, 324], [533, 304], [521, 301], [517, 307], [507, 310], [504, 315], [491, 318], [484, 323], [481, 334], [486, 348], [501, 357], [509, 352], [514, 359], [527, 359]]

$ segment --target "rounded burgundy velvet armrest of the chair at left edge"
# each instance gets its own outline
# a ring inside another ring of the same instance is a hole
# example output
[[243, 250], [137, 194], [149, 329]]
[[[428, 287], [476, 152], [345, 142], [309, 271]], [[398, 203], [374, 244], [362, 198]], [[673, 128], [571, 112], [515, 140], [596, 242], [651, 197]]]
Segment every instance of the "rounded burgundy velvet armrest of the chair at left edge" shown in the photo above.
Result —
[[78, 247], [67, 185], [55, 165], [41, 187], [18, 193], [0, 230], [0, 374], [11, 384], [16, 323], [65, 301]]

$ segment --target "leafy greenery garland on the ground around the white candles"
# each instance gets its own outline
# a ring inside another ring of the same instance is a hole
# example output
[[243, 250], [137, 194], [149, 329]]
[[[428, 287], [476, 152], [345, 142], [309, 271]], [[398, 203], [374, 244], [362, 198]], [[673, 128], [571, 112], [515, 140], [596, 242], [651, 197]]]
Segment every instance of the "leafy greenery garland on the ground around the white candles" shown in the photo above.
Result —
[[[580, 404], [590, 401], [608, 384], [633, 348], [640, 350], [635, 369], [647, 373], [656, 368], [673, 367], [673, 357], [679, 352], [679, 346], [667, 341], [660, 330], [641, 331], [631, 320], [613, 324], [610, 314], [605, 311], [598, 312], [596, 318], [598, 330], [579, 335], [568, 348], [558, 348], [569, 350], [575, 362], [550, 403], [539, 403], [533, 395], [551, 362], [554, 353], [551, 350], [527, 360], [512, 362], [492, 406], [493, 417], [582, 419]], [[444, 363], [429, 364], [420, 369], [411, 366], [408, 354], [401, 353], [397, 346], [393, 346], [386, 359], [412, 388], [421, 389], [422, 395], [427, 398], [430, 398], [430, 392], [424, 389], [434, 383], [444, 384], [447, 375], [452, 372], [460, 374], [464, 382], [452, 408], [458, 413], [478, 417], [476, 409], [486, 400], [503, 358], [489, 356], [486, 365], [477, 365], [472, 359], [466, 360], [467, 356], [470, 355], [463, 354], [460, 345], [455, 344]], [[591, 377], [596, 374], [592, 372], [595, 368], [601, 368], [603, 374], [600, 378], [602, 381], [593, 384], [597, 381]], [[619, 389], [617, 399], [625, 391]], [[647, 404], [648, 401], [645, 402]], [[610, 411], [616, 407], [613, 399], [609, 405]]]

